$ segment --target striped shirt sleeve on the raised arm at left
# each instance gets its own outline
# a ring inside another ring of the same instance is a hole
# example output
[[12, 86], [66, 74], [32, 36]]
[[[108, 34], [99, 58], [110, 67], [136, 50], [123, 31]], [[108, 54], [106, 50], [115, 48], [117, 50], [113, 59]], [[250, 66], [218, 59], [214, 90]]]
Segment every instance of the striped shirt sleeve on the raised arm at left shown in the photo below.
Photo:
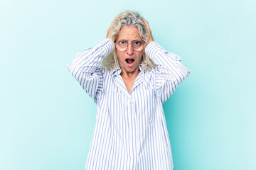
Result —
[[102, 92], [102, 60], [113, 50], [110, 39], [102, 40], [95, 47], [77, 53], [73, 62], [68, 64], [69, 72], [78, 80], [82, 89], [97, 103]]

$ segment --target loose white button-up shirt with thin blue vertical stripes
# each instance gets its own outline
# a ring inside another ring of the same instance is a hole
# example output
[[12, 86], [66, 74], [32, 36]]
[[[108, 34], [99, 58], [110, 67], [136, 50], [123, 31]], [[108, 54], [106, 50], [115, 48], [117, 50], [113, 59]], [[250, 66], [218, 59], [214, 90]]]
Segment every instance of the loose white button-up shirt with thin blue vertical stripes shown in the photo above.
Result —
[[190, 70], [157, 42], [145, 52], [157, 65], [140, 72], [129, 94], [118, 67], [102, 69], [114, 47], [110, 39], [78, 53], [70, 73], [97, 104], [95, 130], [85, 169], [173, 169], [162, 104]]

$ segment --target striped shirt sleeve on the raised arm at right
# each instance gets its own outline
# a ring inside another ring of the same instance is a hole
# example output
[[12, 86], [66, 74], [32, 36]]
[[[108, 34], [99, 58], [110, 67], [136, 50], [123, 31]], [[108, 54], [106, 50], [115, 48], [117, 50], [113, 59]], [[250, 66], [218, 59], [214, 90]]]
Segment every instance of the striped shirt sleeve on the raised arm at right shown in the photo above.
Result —
[[174, 93], [178, 84], [188, 76], [190, 70], [183, 66], [178, 55], [167, 52], [157, 42], [149, 43], [145, 52], [157, 65], [156, 93], [164, 103]]

